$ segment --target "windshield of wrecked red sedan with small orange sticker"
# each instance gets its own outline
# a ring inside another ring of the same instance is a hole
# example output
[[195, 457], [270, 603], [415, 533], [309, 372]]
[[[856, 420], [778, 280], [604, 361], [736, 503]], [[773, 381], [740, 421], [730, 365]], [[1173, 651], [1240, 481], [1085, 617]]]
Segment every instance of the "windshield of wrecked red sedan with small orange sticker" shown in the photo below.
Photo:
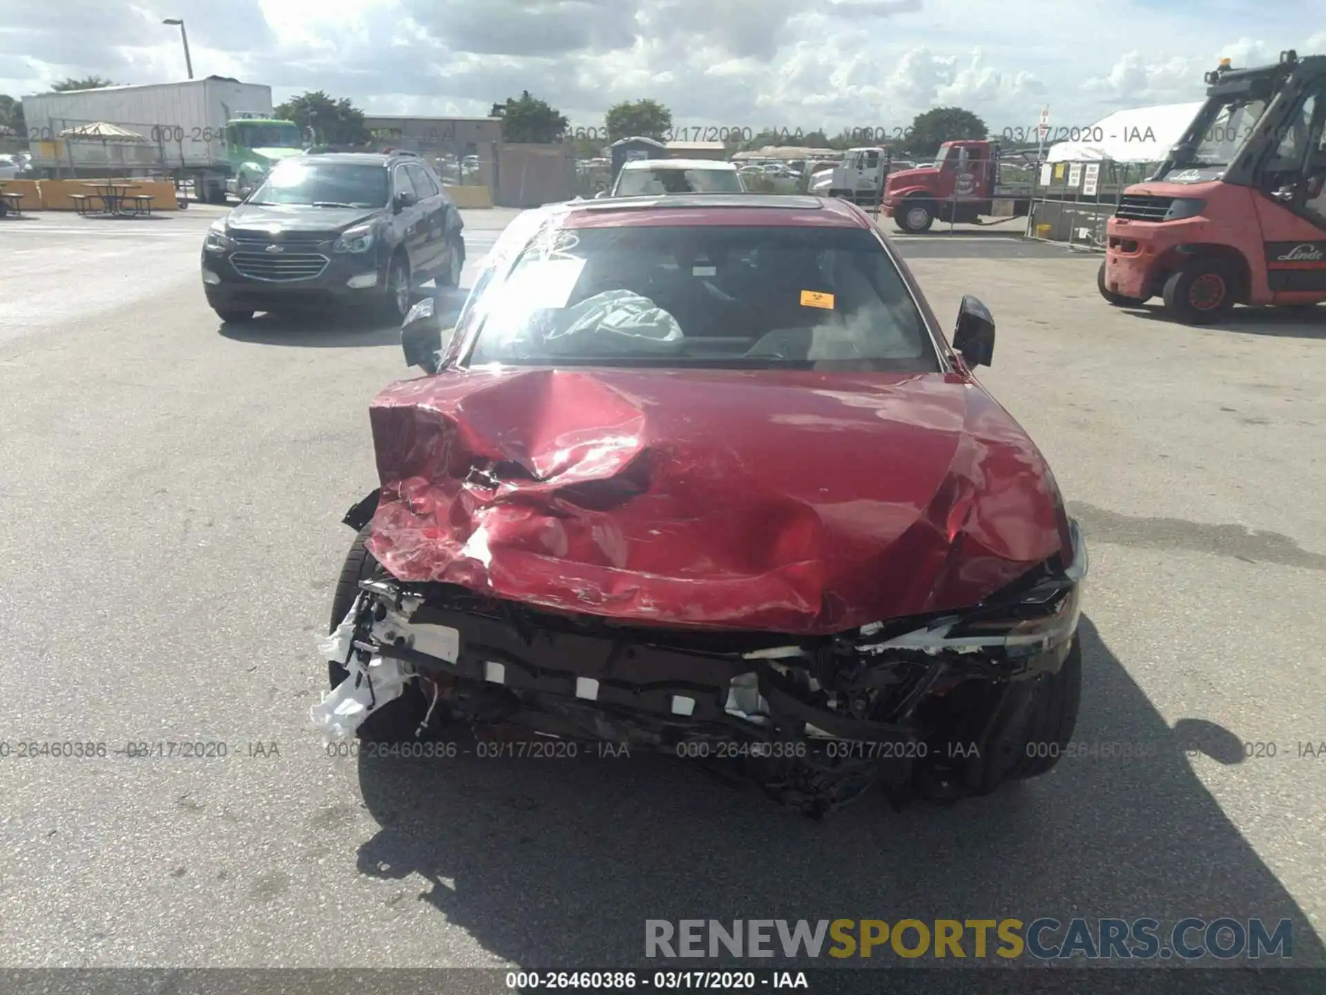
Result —
[[507, 265], [468, 308], [469, 365], [939, 369], [862, 228], [549, 223]]

